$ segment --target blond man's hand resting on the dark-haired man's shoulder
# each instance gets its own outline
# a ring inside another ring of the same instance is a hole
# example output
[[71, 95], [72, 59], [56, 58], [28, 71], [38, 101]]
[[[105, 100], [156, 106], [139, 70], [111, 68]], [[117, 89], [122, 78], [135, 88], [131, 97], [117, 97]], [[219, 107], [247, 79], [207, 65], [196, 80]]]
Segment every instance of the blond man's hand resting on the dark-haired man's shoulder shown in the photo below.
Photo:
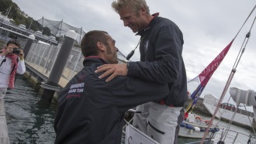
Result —
[[104, 64], [100, 67], [97, 67], [97, 70], [95, 70], [95, 73], [104, 72], [104, 74], [100, 75], [99, 78], [103, 78], [109, 76], [109, 78], [106, 79], [106, 82], [112, 81], [116, 76], [126, 76], [128, 73], [127, 64]]

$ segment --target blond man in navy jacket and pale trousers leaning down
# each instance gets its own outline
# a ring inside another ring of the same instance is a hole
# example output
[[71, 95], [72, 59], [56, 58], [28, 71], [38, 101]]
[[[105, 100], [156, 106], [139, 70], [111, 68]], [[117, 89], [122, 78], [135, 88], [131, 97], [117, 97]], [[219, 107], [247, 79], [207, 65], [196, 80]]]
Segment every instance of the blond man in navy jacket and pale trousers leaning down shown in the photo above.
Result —
[[100, 77], [109, 75], [106, 81], [122, 75], [167, 83], [168, 97], [137, 107], [133, 126], [161, 144], [177, 143], [185, 113], [183, 106], [188, 100], [182, 31], [175, 22], [160, 17], [159, 13], [150, 15], [145, 0], [116, 0], [112, 8], [123, 25], [140, 36], [140, 61], [104, 65], [96, 72], [106, 71]]

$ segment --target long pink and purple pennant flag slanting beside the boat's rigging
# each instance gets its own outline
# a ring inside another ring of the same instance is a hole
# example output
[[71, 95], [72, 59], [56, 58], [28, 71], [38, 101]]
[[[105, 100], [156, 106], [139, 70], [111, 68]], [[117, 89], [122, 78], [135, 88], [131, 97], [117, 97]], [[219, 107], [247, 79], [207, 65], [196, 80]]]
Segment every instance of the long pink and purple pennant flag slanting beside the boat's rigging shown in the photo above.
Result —
[[202, 94], [203, 89], [206, 87], [206, 84], [208, 83], [209, 79], [213, 76], [215, 70], [220, 66], [220, 63], [227, 55], [227, 52], [230, 50], [230, 46], [232, 45], [233, 42], [234, 39], [225, 47], [225, 49], [223, 49], [220, 52], [220, 54], [217, 57], [215, 57], [215, 59], [211, 63], [209, 63], [209, 65], [204, 70], [202, 70], [202, 72], [197, 77], [188, 81], [188, 83], [192, 81], [197, 81], [199, 82], [199, 86], [190, 95], [190, 97], [192, 98], [192, 102], [188, 105], [188, 108], [186, 108], [186, 113], [192, 111], [192, 109], [194, 108], [195, 103]]

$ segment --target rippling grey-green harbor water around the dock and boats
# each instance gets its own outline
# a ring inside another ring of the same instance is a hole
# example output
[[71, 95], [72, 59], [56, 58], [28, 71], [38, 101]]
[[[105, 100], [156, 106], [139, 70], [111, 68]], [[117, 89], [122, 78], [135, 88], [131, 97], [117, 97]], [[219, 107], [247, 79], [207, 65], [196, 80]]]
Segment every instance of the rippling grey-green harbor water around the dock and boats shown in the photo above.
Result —
[[[40, 104], [40, 87], [30, 84], [26, 77], [16, 77], [15, 87], [13, 90], [8, 90], [5, 96], [5, 113], [10, 143], [54, 143], [56, 101], [53, 101], [51, 105]], [[219, 125], [221, 128], [226, 128], [228, 123], [220, 122]], [[236, 125], [231, 125], [230, 129], [246, 135], [254, 135], [250, 130]], [[220, 137], [220, 135], [221, 132], [218, 132], [216, 137]], [[228, 136], [225, 143], [233, 143], [234, 136], [235, 133], [232, 137]], [[200, 140], [178, 138], [178, 143], [199, 142]], [[247, 136], [238, 135], [235, 143], [247, 143], [247, 140]], [[217, 143], [217, 141], [211, 143]]]

